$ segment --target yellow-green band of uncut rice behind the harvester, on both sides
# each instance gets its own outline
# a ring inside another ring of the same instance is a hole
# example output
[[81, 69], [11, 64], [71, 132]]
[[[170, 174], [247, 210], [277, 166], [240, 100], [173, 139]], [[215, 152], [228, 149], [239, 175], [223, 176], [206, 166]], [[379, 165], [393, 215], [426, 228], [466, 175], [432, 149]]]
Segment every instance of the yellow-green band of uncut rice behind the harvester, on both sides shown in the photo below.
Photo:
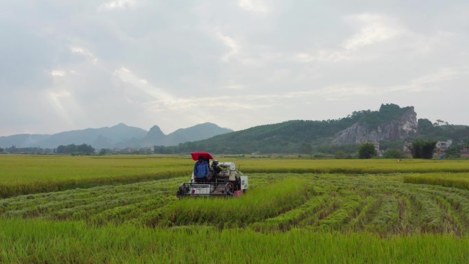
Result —
[[[226, 158], [245, 173], [469, 172], [469, 160], [311, 160]], [[0, 155], [0, 197], [188, 176], [187, 156]]]

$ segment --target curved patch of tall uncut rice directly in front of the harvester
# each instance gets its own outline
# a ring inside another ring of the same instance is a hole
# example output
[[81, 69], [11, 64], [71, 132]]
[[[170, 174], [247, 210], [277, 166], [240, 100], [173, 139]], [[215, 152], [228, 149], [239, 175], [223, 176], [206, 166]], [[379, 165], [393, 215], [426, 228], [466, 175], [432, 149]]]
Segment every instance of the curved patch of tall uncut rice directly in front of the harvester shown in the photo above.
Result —
[[165, 220], [172, 225], [245, 226], [303, 204], [308, 190], [306, 180], [285, 178], [239, 199], [183, 199], [169, 205]]

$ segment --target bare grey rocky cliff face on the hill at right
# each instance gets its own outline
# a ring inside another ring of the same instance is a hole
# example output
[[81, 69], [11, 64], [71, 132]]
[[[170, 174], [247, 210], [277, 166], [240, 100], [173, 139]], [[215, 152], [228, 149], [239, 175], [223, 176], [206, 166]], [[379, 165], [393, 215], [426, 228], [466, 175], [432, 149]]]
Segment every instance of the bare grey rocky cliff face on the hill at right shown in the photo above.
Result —
[[346, 143], [395, 141], [415, 134], [417, 127], [417, 113], [413, 107], [410, 107], [398, 119], [386, 121], [376, 127], [370, 127], [370, 125], [363, 122], [354, 123], [349, 128], [338, 132], [332, 143], [341, 145]]

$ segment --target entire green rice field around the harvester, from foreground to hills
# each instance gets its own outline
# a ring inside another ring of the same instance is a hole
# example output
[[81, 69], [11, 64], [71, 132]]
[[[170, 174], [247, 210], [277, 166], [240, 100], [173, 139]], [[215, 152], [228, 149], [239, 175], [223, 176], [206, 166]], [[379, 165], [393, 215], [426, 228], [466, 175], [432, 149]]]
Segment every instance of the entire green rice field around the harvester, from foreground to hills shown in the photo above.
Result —
[[[16, 160], [16, 167], [10, 164], [5, 170], [8, 177], [1, 174], [0, 182], [19, 187], [34, 182], [23, 168], [31, 172], [41, 166], [36, 173], [43, 175], [44, 182], [80, 180], [81, 173], [91, 173], [91, 168], [97, 171], [84, 177], [87, 180], [136, 178], [130, 183], [109, 180], [40, 193], [10, 193], [0, 199], [0, 263], [466, 263], [469, 259], [468, 161], [239, 158], [235, 162], [241, 170], [250, 171], [248, 193], [239, 198], [178, 200], [177, 187], [188, 180], [184, 169], [191, 169], [192, 160], [55, 157], [45, 166], [37, 162], [43, 157], [23, 158]], [[291, 164], [298, 166], [296, 171], [288, 169]], [[67, 166], [73, 173], [61, 177]], [[112, 175], [114, 166], [128, 171]], [[342, 171], [335, 171], [340, 166]], [[141, 172], [150, 175], [152, 168], [154, 177], [139, 178], [145, 175]], [[19, 177], [11, 180], [14, 171]]]

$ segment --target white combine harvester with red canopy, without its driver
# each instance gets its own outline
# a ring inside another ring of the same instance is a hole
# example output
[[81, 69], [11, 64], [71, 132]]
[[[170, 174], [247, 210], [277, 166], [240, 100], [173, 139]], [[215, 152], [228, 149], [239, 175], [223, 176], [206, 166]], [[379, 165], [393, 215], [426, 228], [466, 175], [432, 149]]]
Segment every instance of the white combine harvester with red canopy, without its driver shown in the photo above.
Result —
[[219, 163], [207, 152], [193, 152], [191, 156], [193, 160], [198, 160], [202, 156], [208, 165], [208, 177], [206, 182], [196, 182], [194, 172], [192, 172], [191, 182], [184, 182], [180, 185], [176, 194], [179, 198], [239, 197], [248, 189], [248, 176], [237, 170], [234, 163]]

